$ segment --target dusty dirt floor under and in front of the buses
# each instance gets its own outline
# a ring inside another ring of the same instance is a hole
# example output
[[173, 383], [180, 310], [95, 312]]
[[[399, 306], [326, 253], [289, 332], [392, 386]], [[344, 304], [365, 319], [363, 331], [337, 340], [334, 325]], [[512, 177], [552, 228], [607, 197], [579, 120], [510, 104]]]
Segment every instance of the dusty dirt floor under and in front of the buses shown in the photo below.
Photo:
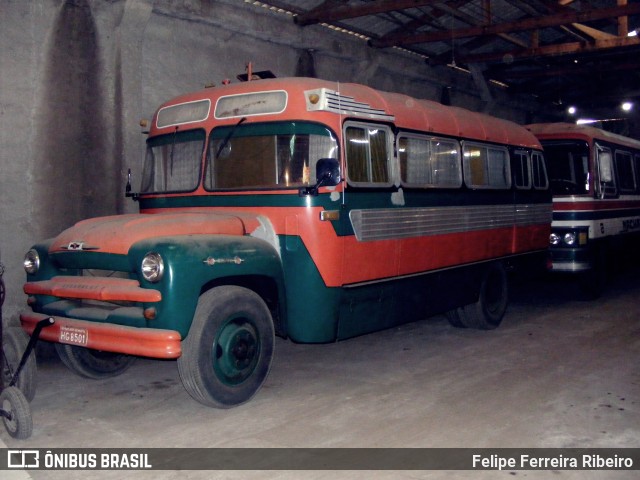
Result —
[[[46, 357], [46, 355], [45, 355]], [[263, 389], [230, 410], [183, 389], [175, 362], [87, 380], [40, 359], [33, 435], [9, 448], [638, 447], [640, 276], [598, 300], [563, 279], [512, 285], [500, 328], [444, 316], [329, 345], [278, 340]], [[5, 476], [9, 473], [11, 476]], [[3, 479], [631, 479], [585, 471], [30, 471]]]

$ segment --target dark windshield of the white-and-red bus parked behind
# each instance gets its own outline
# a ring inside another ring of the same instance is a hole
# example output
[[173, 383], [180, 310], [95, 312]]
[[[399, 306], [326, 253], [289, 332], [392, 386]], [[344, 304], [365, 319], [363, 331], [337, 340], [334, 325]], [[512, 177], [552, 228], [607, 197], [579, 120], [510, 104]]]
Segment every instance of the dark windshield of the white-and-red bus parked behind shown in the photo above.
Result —
[[585, 142], [543, 142], [554, 195], [589, 192], [589, 146]]

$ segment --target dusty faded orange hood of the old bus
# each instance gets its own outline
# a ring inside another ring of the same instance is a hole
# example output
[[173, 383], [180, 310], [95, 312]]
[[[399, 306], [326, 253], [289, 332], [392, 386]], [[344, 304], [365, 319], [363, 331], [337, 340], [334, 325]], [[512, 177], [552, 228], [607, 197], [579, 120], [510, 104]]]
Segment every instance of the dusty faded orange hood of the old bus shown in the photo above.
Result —
[[98, 217], [76, 223], [58, 235], [49, 251], [96, 251], [126, 255], [136, 242], [176, 235], [244, 235], [246, 222], [213, 212], [128, 214]]

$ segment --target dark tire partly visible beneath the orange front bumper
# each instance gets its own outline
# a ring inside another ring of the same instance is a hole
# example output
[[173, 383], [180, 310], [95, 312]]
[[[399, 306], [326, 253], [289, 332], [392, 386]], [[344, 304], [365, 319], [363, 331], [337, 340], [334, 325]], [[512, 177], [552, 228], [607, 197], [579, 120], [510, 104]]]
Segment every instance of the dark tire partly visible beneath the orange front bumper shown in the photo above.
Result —
[[124, 373], [136, 357], [122, 353], [103, 352], [90, 348], [56, 343], [56, 352], [62, 363], [81, 377], [99, 380]]

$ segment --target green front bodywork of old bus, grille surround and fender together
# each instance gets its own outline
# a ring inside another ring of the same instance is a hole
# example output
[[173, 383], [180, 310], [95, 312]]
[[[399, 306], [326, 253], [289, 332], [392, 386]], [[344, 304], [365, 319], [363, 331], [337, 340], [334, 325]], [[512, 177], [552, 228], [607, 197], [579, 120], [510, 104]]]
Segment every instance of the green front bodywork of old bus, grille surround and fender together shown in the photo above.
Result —
[[[129, 272], [142, 288], [160, 291], [162, 300], [155, 303], [123, 306], [114, 309], [82, 306], [75, 300], [36, 295], [34, 311], [97, 322], [132, 327], [176, 330], [183, 337], [189, 332], [200, 294], [218, 284], [273, 284], [274, 314], [279, 317], [286, 305], [284, 278], [278, 252], [264, 240], [233, 235], [184, 235], [155, 237], [132, 245], [127, 256], [98, 252], [63, 252], [49, 255], [46, 245], [38, 249], [42, 268], [29, 275], [29, 282], [56, 275], [77, 275], [80, 269], [106, 269]], [[140, 263], [149, 252], [164, 260], [164, 276], [158, 283], [144, 280]], [[207, 263], [207, 259], [212, 259]], [[265, 287], [266, 291], [266, 287]], [[145, 308], [156, 309], [153, 320], [145, 320]]]

